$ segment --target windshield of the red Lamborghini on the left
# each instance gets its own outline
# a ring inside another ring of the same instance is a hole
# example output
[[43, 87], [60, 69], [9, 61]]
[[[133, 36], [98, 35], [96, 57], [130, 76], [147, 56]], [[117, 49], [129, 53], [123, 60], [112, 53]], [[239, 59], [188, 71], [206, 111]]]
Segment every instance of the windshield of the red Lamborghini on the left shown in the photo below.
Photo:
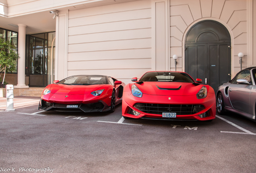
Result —
[[101, 75], [77, 75], [70, 76], [60, 80], [58, 84], [68, 85], [91, 85], [91, 84], [107, 84], [107, 77]]

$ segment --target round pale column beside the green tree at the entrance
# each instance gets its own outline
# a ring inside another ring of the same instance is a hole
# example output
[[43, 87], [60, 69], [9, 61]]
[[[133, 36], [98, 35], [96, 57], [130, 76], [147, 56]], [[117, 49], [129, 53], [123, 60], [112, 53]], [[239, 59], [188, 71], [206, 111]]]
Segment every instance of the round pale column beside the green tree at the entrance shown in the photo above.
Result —
[[28, 88], [25, 84], [25, 51], [26, 51], [26, 25], [18, 24], [19, 37], [18, 37], [18, 84], [15, 88]]

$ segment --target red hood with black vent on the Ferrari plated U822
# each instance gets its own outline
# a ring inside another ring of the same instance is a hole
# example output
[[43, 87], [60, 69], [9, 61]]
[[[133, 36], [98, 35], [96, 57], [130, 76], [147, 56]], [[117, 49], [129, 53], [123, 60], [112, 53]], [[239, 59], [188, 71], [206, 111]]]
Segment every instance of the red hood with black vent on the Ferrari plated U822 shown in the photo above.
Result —
[[166, 96], [196, 95], [203, 86], [185, 82], [138, 82], [135, 85], [144, 94]]

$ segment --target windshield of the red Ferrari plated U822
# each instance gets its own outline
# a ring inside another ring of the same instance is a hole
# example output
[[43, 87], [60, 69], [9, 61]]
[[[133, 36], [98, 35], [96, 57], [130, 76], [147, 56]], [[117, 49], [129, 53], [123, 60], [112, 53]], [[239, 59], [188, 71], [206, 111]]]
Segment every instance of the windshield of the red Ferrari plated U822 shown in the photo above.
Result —
[[139, 80], [139, 82], [188, 82], [193, 83], [194, 80], [184, 72], [147, 72]]

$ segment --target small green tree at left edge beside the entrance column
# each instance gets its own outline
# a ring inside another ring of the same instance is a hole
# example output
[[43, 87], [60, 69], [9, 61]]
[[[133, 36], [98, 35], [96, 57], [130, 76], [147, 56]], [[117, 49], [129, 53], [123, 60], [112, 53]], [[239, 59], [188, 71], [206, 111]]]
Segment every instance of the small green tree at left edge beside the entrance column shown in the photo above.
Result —
[[[16, 48], [12, 45], [12, 41], [5, 41], [0, 38], [0, 77], [4, 72], [4, 78], [7, 71], [16, 70], [17, 59], [19, 55], [16, 53]], [[2, 84], [4, 84], [4, 78]]]

